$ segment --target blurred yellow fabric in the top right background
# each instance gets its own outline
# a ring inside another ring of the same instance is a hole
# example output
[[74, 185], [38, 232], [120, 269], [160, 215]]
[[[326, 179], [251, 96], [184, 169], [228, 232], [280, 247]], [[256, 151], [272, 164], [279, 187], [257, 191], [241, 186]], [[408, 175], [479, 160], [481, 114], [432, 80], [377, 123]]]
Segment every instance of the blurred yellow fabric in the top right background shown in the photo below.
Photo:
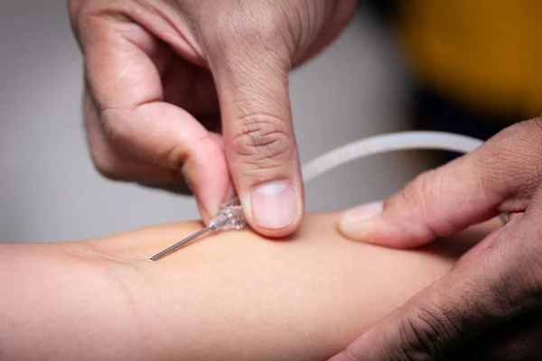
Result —
[[397, 31], [430, 87], [491, 114], [542, 108], [542, 0], [404, 0]]

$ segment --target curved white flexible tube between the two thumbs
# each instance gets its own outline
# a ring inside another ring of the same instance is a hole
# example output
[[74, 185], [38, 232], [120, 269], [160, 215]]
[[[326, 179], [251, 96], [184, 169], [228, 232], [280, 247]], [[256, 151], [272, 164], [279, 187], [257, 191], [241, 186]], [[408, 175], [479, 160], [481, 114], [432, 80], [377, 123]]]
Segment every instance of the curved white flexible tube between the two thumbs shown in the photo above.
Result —
[[342, 145], [305, 163], [302, 169], [303, 179], [304, 183], [307, 183], [326, 171], [372, 154], [414, 149], [469, 153], [482, 143], [481, 140], [470, 136], [444, 132], [399, 132], [376, 135]]

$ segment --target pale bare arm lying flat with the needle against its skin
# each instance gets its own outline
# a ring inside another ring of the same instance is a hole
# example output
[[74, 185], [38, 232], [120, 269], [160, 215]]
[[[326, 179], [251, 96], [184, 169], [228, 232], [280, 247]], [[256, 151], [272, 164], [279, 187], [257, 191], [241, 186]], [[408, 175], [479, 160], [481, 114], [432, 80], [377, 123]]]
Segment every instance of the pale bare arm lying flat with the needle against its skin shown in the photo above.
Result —
[[[201, 227], [0, 246], [0, 358], [322, 360], [448, 273], [458, 243], [392, 250], [309, 215], [289, 239], [250, 230], [150, 255]], [[450, 246], [453, 244], [454, 246]]]

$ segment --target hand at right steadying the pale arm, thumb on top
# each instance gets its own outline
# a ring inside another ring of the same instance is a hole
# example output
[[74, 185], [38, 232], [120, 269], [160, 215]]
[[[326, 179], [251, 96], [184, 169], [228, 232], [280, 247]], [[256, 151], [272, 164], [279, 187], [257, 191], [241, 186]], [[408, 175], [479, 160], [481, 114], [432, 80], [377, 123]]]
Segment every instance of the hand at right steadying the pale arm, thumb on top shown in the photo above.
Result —
[[383, 205], [343, 215], [346, 236], [400, 248], [499, 213], [512, 217], [333, 361], [540, 359], [541, 140], [540, 119], [513, 125], [478, 150], [425, 172]]

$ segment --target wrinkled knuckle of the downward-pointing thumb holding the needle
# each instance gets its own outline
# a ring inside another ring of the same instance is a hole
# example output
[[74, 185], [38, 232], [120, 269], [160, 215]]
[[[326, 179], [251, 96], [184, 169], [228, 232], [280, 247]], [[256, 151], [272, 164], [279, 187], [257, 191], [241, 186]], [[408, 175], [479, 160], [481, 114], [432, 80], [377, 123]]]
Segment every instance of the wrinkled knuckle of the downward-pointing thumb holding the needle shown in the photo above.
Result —
[[294, 139], [275, 116], [246, 116], [229, 144], [238, 160], [254, 170], [279, 169], [294, 157]]

